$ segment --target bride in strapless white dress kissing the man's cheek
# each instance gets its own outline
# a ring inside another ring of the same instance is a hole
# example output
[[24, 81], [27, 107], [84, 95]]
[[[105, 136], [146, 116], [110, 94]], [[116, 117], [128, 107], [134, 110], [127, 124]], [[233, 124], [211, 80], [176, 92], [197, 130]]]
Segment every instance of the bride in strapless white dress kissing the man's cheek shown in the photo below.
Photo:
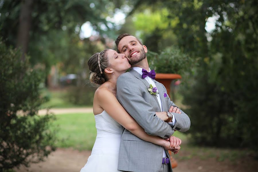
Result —
[[[100, 85], [93, 99], [93, 113], [97, 128], [97, 137], [89, 157], [81, 172], [118, 171], [118, 153], [123, 127], [132, 134], [177, 154], [181, 140], [173, 136], [171, 143], [159, 136], [147, 134], [144, 129], [126, 112], [116, 99], [117, 78], [131, 67], [125, 54], [105, 49], [96, 53], [88, 61], [89, 80]], [[164, 114], [164, 113], [163, 113]], [[166, 121], [161, 112], [156, 115]]]

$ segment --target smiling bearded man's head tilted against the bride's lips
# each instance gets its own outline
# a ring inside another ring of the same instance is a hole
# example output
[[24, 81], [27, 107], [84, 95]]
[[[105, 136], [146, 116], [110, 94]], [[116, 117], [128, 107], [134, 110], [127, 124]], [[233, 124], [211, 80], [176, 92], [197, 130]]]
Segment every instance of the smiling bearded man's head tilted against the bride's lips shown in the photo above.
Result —
[[118, 44], [120, 53], [124, 53], [131, 65], [137, 64], [146, 58], [147, 48], [141, 45], [134, 36], [125, 36]]

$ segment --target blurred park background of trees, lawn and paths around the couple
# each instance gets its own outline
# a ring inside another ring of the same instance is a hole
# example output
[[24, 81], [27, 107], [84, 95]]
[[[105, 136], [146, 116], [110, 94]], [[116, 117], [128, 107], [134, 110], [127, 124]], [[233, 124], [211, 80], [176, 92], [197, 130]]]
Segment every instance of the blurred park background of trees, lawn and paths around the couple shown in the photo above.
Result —
[[[257, 171], [258, 1], [0, 0], [0, 171], [79, 171], [95, 142], [87, 61], [130, 33], [177, 73], [183, 171]], [[51, 108], [50, 110], [48, 110]], [[44, 161], [43, 161], [44, 160]]]

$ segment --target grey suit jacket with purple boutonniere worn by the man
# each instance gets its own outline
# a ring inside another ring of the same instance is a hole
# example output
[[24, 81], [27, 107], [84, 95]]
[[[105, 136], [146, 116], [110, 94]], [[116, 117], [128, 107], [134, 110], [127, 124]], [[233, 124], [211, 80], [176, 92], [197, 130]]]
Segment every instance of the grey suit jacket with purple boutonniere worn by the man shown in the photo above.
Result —
[[[169, 107], [175, 106], [175, 104], [169, 96], [163, 96], [163, 93], [167, 92], [164, 85], [155, 80], [154, 82], [160, 93], [162, 109], [168, 111]], [[131, 69], [120, 75], [117, 80], [117, 99], [148, 134], [169, 138], [174, 130], [187, 131], [190, 127], [190, 119], [183, 111], [181, 114], [173, 113], [177, 121], [173, 127], [156, 116], [156, 112], [161, 112], [161, 108], [157, 96], [148, 92], [149, 86], [146, 79], [142, 79], [138, 72]], [[170, 158], [167, 150], [166, 153]], [[146, 142], [125, 128], [122, 130], [118, 170], [159, 171], [162, 165], [162, 156], [162, 146]]]

